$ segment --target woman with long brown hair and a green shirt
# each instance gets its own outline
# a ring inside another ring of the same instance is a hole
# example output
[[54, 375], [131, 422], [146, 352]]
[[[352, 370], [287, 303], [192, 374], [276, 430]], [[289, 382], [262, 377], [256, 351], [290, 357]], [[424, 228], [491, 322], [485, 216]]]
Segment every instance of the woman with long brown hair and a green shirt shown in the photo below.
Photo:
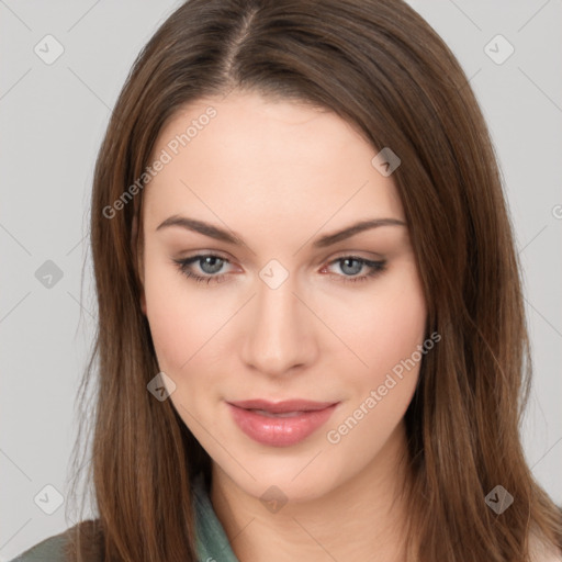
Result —
[[99, 517], [43, 560], [562, 560], [494, 150], [407, 4], [180, 7], [91, 236]]

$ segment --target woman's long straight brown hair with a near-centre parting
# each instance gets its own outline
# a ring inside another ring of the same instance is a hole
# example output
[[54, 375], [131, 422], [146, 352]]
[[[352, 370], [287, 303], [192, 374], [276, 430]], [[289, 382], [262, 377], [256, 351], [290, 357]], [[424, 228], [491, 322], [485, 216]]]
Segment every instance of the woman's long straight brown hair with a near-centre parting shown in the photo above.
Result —
[[[210, 458], [171, 401], [146, 389], [159, 369], [134, 249], [143, 186], [131, 187], [167, 120], [233, 89], [328, 109], [402, 160], [393, 179], [427, 334], [441, 335], [406, 413], [408, 560], [522, 562], [531, 531], [562, 546], [560, 510], [519, 437], [531, 362], [509, 215], [486, 125], [450, 49], [402, 0], [191, 0], [139, 54], [93, 181], [99, 328], [82, 400], [95, 380], [88, 477], [105, 560], [196, 560], [190, 483]], [[501, 515], [485, 503], [498, 484], [515, 498]]]

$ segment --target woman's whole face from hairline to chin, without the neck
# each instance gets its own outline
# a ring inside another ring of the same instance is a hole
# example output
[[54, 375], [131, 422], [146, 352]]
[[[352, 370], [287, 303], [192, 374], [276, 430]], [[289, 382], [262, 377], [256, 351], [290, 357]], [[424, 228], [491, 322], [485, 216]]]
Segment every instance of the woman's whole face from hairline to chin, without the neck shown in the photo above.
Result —
[[304, 499], [380, 465], [404, 437], [426, 306], [376, 150], [328, 111], [239, 93], [175, 115], [151, 161], [162, 150], [142, 305], [214, 468]]

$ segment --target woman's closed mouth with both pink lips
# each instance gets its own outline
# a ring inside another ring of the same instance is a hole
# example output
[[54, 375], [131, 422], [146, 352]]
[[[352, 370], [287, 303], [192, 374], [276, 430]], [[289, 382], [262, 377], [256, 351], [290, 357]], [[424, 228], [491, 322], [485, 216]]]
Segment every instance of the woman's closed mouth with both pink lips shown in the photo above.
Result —
[[252, 440], [270, 447], [296, 445], [323, 426], [339, 402], [249, 400], [227, 402], [238, 428]]

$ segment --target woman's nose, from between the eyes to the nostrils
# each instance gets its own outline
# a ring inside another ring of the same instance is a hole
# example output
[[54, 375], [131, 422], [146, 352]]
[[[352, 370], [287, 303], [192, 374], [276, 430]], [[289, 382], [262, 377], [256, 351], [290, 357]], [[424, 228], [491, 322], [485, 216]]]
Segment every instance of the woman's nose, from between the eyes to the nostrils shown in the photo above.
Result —
[[301, 302], [291, 276], [277, 289], [257, 280], [257, 294], [245, 317], [241, 359], [272, 376], [294, 374], [311, 366], [318, 351], [317, 319]]

